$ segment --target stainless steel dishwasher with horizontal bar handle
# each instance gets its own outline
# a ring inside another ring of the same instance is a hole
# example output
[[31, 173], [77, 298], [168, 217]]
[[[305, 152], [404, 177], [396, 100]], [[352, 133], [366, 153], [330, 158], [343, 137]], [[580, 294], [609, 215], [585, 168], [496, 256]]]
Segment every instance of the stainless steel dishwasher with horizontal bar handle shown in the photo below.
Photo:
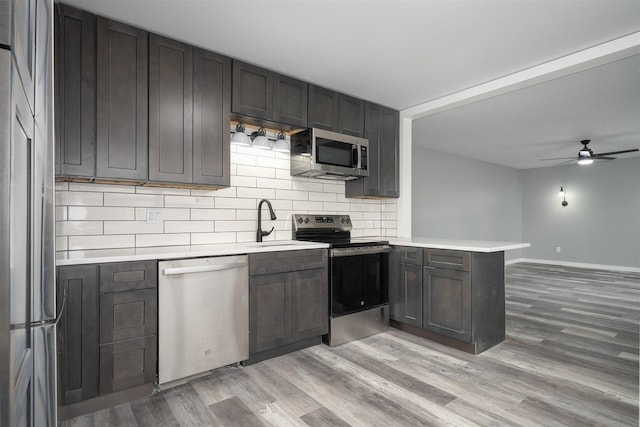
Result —
[[249, 358], [248, 259], [158, 263], [158, 384]]

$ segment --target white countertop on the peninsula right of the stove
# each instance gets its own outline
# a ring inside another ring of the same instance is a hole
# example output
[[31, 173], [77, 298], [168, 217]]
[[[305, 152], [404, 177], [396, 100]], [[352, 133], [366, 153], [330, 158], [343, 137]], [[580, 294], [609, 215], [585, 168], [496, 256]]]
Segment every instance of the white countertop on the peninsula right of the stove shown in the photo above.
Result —
[[531, 243], [495, 242], [490, 240], [459, 240], [439, 237], [389, 237], [389, 243], [399, 246], [415, 246], [432, 249], [451, 249], [470, 252], [501, 252], [528, 248]]

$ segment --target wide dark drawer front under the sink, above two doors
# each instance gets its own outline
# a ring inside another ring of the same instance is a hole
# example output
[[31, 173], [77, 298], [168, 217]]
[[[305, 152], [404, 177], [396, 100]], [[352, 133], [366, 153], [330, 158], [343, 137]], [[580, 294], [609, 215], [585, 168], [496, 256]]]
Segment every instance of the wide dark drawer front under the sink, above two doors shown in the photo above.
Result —
[[327, 267], [326, 249], [264, 252], [249, 255], [249, 275], [283, 273]]

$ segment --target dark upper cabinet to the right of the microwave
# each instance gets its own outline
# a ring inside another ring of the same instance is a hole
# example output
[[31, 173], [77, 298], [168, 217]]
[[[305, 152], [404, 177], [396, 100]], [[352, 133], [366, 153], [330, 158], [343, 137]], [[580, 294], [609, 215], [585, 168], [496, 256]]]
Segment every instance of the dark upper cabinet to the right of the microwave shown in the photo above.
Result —
[[369, 140], [369, 176], [345, 184], [346, 197], [399, 196], [398, 111], [365, 103], [364, 137]]

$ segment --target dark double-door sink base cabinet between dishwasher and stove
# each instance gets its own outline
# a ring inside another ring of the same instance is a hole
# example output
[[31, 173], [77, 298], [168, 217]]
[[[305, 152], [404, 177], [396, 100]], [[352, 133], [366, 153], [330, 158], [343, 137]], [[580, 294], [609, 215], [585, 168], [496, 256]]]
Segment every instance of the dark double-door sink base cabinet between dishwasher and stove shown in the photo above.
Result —
[[249, 255], [249, 360], [319, 344], [329, 330], [325, 249]]

